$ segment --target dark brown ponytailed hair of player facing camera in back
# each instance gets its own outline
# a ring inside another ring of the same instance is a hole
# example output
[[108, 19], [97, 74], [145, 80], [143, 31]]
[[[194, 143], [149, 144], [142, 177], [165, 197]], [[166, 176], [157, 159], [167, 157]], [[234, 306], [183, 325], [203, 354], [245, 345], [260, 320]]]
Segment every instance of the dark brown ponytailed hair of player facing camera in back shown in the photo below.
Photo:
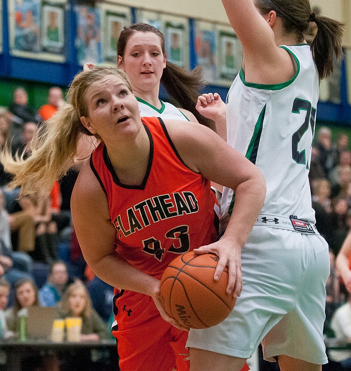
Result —
[[[133, 23], [130, 26], [124, 27], [120, 34], [117, 44], [118, 56], [124, 57], [126, 44], [135, 32], [152, 32], [156, 34], [160, 38], [161, 49], [165, 55], [164, 34], [156, 27], [147, 23]], [[190, 111], [200, 124], [215, 130], [214, 122], [202, 116], [195, 108], [200, 90], [206, 85], [202, 79], [202, 69], [200, 66], [195, 67], [192, 71], [186, 71], [184, 68], [166, 61], [161, 82], [170, 97], [179, 103], [182, 108]]]

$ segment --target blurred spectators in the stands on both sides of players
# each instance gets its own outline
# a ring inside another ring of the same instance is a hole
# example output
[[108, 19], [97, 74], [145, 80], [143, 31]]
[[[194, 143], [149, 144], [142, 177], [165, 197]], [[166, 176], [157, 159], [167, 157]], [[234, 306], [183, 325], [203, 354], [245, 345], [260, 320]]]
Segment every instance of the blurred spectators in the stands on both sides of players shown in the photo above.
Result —
[[[6, 147], [13, 156], [28, 156], [35, 129], [63, 103], [62, 89], [52, 87], [47, 103], [36, 111], [28, 105], [26, 90], [15, 89], [13, 102], [0, 107], [0, 149]], [[113, 289], [86, 266], [71, 223], [70, 196], [81, 165], [77, 162], [57, 180], [49, 196], [19, 198], [19, 189], [8, 187], [11, 176], [0, 164], [0, 322], [2, 316], [6, 319], [0, 329], [2, 336], [16, 334], [17, 311], [23, 306], [53, 306], [58, 308], [58, 316], [71, 314], [71, 301], [64, 295], [74, 290], [81, 290], [78, 296], [84, 303], [77, 315], [89, 313], [94, 317], [83, 325], [82, 336], [110, 336], [107, 327], [112, 321]], [[326, 336], [330, 336], [331, 317], [348, 300], [335, 268], [335, 257], [351, 229], [349, 135], [341, 132], [333, 141], [330, 128], [320, 127], [308, 166], [316, 226], [330, 247], [325, 327]], [[25, 291], [31, 292], [30, 298], [25, 298]], [[95, 321], [95, 327], [91, 321]]]

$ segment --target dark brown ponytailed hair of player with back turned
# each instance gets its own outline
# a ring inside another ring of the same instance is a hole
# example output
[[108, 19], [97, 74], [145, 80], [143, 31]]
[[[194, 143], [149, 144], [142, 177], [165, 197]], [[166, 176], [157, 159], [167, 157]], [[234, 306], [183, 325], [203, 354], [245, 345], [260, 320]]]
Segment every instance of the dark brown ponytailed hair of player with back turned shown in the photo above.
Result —
[[301, 41], [310, 22], [315, 22], [318, 30], [310, 48], [319, 78], [325, 79], [332, 73], [335, 57], [342, 55], [343, 23], [313, 13], [309, 0], [256, 0], [255, 5], [261, 14], [274, 10], [282, 18], [285, 30], [299, 34]]

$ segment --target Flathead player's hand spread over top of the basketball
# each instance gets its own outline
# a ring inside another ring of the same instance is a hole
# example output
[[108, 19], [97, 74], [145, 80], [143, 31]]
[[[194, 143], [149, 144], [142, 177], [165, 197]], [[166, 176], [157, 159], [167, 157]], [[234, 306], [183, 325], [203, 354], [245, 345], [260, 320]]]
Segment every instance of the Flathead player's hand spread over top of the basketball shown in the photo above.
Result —
[[214, 280], [218, 281], [224, 268], [228, 267], [227, 293], [233, 297], [240, 296], [243, 289], [243, 277], [241, 274], [241, 247], [236, 246], [232, 240], [223, 237], [213, 244], [195, 248], [196, 255], [213, 253], [218, 256], [219, 261], [214, 272]]

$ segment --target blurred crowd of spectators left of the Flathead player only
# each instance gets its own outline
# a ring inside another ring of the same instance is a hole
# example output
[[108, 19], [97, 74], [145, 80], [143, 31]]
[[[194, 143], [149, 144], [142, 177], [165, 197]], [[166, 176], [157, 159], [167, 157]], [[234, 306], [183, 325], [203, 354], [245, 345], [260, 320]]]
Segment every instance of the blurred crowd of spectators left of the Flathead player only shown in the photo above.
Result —
[[[63, 103], [62, 89], [52, 87], [36, 111], [26, 90], [15, 89], [13, 102], [0, 107], [0, 149], [28, 156], [36, 128]], [[112, 336], [113, 288], [86, 266], [71, 222], [70, 196], [81, 165], [57, 180], [49, 196], [20, 198], [0, 164], [0, 338], [19, 337], [19, 313], [29, 306], [55, 307], [57, 318], [82, 317], [81, 341]], [[56, 358], [40, 362], [35, 370], [64, 369]]]

